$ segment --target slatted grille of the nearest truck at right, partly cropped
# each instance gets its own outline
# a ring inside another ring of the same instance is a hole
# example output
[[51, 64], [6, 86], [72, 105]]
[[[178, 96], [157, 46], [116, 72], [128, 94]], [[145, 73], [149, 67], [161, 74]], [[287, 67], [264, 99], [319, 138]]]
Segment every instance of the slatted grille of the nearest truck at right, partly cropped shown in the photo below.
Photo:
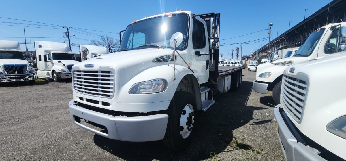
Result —
[[299, 122], [303, 112], [308, 84], [306, 81], [283, 75], [281, 99], [286, 110]]

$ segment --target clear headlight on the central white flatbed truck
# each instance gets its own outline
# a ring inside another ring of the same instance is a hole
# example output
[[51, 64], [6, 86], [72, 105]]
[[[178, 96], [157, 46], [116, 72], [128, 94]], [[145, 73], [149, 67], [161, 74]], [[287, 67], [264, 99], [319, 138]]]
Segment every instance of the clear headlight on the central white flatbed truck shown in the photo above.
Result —
[[148, 94], [158, 93], [166, 90], [167, 81], [164, 79], [153, 79], [145, 82], [139, 82], [134, 84], [130, 90], [130, 94]]

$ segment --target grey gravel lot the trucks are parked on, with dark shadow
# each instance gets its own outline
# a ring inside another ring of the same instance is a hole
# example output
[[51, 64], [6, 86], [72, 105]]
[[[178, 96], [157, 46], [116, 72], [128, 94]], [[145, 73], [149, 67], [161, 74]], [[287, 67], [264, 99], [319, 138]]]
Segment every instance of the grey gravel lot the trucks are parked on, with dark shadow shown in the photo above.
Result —
[[253, 91], [255, 74], [244, 69], [237, 92], [215, 97], [182, 152], [161, 141], [116, 141], [79, 128], [67, 108], [71, 81], [0, 84], [0, 160], [284, 160], [272, 97]]

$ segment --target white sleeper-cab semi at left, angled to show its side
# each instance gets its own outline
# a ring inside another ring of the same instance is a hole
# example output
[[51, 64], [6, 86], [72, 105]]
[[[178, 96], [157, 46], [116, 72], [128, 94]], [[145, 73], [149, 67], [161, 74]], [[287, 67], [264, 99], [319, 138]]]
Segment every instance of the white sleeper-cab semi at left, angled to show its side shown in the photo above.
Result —
[[37, 77], [52, 79], [59, 82], [61, 79], [71, 79], [71, 68], [79, 63], [75, 54], [65, 43], [51, 41], [35, 41], [37, 62]]

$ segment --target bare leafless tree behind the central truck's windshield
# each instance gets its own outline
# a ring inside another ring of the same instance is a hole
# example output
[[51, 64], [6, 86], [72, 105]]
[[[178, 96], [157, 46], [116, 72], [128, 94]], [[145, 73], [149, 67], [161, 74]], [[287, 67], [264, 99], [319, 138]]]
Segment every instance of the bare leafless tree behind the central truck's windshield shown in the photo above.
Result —
[[109, 53], [117, 52], [120, 47], [118, 40], [108, 37], [107, 35], [101, 36], [101, 40], [92, 40], [90, 44], [105, 47]]

